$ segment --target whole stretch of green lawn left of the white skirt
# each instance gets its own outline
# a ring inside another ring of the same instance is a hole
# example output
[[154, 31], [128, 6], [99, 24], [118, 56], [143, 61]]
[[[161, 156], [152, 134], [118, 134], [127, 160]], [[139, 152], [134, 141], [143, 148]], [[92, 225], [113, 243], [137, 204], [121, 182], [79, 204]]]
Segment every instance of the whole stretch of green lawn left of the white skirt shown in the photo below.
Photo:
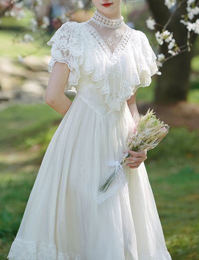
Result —
[[44, 151], [61, 116], [44, 104], [0, 112], [0, 260], [18, 230]]

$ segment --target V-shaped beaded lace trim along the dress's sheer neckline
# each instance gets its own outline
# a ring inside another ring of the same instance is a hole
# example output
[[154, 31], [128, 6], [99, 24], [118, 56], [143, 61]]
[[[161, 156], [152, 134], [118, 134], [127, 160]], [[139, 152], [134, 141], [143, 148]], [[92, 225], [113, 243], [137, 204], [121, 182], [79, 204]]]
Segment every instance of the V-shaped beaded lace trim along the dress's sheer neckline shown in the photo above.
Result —
[[123, 36], [121, 37], [119, 43], [117, 44], [117, 46], [115, 47], [114, 51], [111, 52], [110, 49], [108, 48], [107, 44], [105, 43], [105, 41], [103, 40], [103, 38], [100, 36], [99, 32], [89, 23], [85, 23], [85, 27], [88, 29], [88, 31], [91, 33], [91, 35], [97, 40], [97, 42], [99, 43], [101, 49], [109, 56], [113, 56], [116, 55], [117, 58], [118, 56], [122, 53], [122, 51], [124, 50], [126, 44], [128, 43], [131, 34], [132, 34], [132, 30], [131, 28], [127, 27]]

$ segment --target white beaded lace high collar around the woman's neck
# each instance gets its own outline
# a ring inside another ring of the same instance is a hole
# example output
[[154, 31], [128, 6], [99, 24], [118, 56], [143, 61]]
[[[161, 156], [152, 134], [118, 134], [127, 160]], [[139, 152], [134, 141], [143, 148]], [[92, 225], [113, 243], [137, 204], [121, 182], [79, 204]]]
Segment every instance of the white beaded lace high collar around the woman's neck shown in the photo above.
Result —
[[91, 17], [91, 20], [94, 21], [97, 24], [100, 24], [100, 27], [107, 27], [107, 28], [119, 28], [122, 26], [123, 22], [123, 16], [119, 19], [110, 19], [100, 13], [97, 9], [94, 13], [94, 15]]

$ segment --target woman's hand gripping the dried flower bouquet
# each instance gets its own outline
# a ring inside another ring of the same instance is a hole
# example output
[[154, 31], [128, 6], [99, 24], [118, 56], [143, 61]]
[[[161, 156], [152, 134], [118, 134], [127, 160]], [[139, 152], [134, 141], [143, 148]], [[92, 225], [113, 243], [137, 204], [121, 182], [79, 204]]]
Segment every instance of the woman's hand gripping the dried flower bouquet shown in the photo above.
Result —
[[127, 163], [126, 165], [129, 166], [129, 168], [135, 169], [140, 166], [140, 164], [146, 160], [146, 154], [147, 150], [141, 151], [141, 152], [135, 152], [128, 150], [128, 153], [131, 154], [130, 157], [126, 158]]

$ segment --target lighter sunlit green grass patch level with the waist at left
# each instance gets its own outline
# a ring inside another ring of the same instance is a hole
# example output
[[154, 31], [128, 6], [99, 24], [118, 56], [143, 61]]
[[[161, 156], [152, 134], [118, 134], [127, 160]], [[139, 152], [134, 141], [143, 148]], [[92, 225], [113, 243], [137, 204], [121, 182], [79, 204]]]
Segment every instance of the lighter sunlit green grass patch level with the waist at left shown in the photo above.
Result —
[[[13, 105], [0, 113], [0, 151], [43, 143], [61, 116], [45, 104]], [[31, 136], [31, 137], [30, 137]]]

